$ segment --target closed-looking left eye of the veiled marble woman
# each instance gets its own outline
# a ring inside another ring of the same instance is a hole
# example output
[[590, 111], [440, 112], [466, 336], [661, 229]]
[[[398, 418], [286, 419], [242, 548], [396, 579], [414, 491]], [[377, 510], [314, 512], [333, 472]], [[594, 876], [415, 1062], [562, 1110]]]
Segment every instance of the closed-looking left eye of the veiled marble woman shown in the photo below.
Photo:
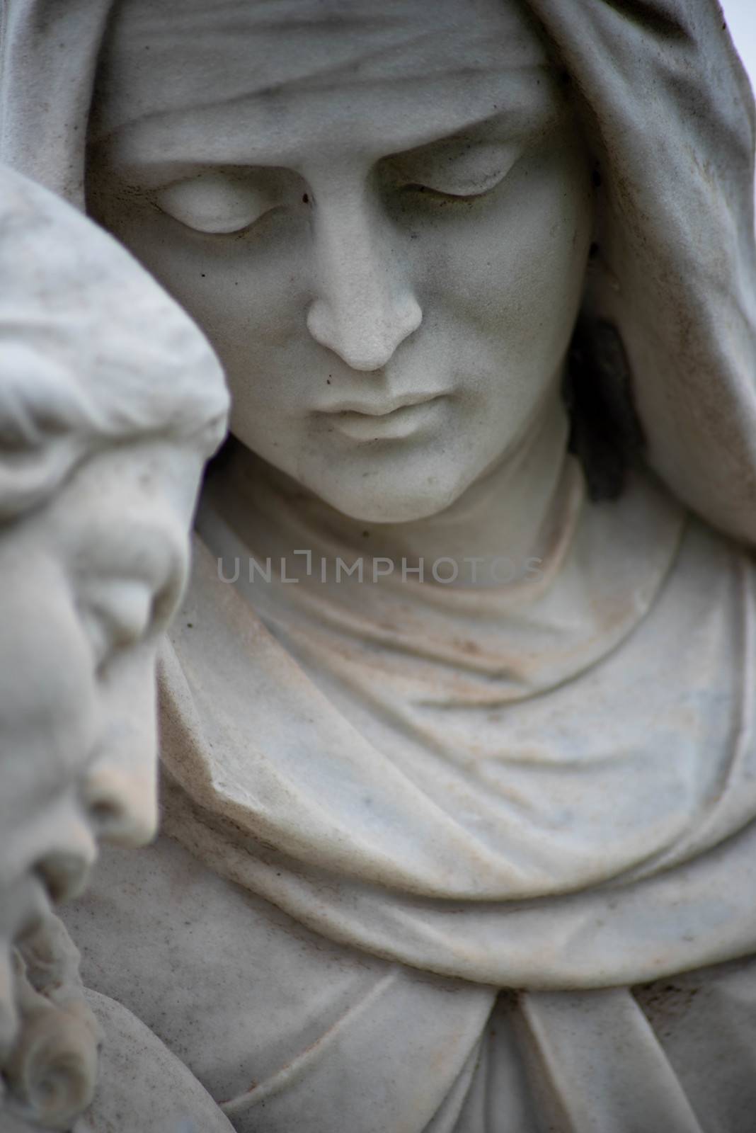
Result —
[[275, 194], [230, 173], [211, 170], [156, 189], [161, 212], [197, 232], [239, 232], [278, 203]]

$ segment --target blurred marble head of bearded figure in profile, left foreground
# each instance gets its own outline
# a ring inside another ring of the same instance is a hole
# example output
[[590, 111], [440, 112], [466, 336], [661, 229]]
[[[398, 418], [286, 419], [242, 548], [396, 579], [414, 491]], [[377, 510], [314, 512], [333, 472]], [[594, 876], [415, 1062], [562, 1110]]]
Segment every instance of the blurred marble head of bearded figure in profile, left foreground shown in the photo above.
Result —
[[5, 1133], [69, 1128], [92, 1101], [102, 1029], [51, 904], [80, 892], [101, 840], [154, 835], [156, 651], [227, 394], [147, 273], [8, 169], [0, 334]]

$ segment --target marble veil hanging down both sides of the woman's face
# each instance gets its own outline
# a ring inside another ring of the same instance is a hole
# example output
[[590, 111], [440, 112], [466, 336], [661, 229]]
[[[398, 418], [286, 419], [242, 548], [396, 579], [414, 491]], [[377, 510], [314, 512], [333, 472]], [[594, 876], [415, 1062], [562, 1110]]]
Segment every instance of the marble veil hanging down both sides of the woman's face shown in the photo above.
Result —
[[[619, 333], [651, 467], [708, 522], [754, 543], [755, 117], [721, 8], [527, 7], [573, 84], [596, 159], [602, 216], [589, 327], [610, 323]], [[1, 8], [0, 159], [83, 207], [113, 0]]]

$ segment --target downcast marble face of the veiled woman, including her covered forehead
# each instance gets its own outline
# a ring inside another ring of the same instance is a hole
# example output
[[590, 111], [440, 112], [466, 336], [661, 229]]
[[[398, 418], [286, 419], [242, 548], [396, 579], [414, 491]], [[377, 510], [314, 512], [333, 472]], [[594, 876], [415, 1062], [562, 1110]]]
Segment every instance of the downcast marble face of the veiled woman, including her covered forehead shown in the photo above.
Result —
[[284, 7], [120, 6], [91, 207], [209, 335], [244, 444], [349, 516], [418, 519], [558, 395], [587, 157], [502, 0]]

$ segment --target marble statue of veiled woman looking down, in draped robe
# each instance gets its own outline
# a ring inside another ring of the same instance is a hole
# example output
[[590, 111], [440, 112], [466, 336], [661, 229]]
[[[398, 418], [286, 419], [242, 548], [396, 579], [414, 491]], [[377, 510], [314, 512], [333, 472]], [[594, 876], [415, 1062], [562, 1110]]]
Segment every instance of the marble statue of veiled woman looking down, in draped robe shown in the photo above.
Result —
[[751, 1133], [755, 116], [719, 5], [3, 11], [0, 156], [233, 402], [161, 834], [66, 914], [117, 1067], [81, 1121]]

